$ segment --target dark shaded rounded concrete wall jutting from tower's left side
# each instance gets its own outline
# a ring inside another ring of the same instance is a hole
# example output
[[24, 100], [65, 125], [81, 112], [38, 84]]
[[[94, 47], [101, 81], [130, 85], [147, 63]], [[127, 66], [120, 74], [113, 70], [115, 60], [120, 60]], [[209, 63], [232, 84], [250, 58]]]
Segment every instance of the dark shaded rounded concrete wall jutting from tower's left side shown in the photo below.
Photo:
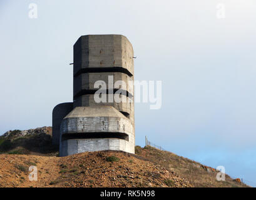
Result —
[[53, 145], [55, 146], [59, 145], [61, 121], [72, 109], [73, 103], [58, 104], [53, 109]]

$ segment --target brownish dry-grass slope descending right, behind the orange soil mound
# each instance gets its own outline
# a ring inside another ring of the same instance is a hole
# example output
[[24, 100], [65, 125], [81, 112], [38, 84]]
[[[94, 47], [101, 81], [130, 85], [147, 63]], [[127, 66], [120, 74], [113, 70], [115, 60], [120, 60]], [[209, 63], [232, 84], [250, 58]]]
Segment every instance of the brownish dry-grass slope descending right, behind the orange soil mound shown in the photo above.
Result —
[[135, 149], [138, 156], [160, 164], [168, 171], [188, 180], [194, 187], [247, 187], [245, 184], [233, 181], [227, 174], [225, 175], [226, 181], [217, 181], [218, 171], [215, 169], [168, 151], [161, 151], [151, 146], [145, 148], [136, 146]]

